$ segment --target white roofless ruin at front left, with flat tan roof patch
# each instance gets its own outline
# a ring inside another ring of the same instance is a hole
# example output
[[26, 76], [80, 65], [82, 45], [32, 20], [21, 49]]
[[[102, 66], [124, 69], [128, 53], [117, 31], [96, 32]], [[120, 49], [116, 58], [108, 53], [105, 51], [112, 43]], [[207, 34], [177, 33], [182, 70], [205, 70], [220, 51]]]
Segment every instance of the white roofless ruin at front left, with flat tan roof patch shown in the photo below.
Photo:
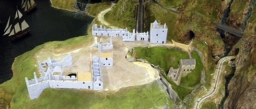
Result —
[[43, 76], [37, 78], [34, 72], [33, 79], [28, 80], [28, 78], [25, 77], [30, 99], [38, 98], [42, 91], [48, 87], [103, 90], [101, 66], [98, 57], [95, 56], [92, 58], [91, 73], [76, 72], [76, 76], [64, 76], [61, 67], [72, 64], [71, 54], [68, 54], [68, 56], [60, 62], [56, 62], [50, 58], [43, 63], [39, 61], [38, 66]]

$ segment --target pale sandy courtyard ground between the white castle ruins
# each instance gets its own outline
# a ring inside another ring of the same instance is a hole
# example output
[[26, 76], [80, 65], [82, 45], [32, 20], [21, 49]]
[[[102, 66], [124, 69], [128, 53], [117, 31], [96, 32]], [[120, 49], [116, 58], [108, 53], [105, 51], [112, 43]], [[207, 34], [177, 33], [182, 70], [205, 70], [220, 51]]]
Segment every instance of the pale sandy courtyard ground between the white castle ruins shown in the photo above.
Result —
[[[99, 39], [99, 38], [98, 38]], [[109, 42], [110, 37], [102, 37], [102, 42]], [[129, 62], [125, 55], [129, 46], [147, 46], [147, 41], [123, 42], [122, 37], [113, 37], [113, 50], [95, 50], [88, 46], [73, 51], [54, 54], [50, 50], [41, 50], [36, 53], [36, 61], [43, 62], [48, 57], [61, 61], [71, 53], [73, 65], [63, 67], [63, 74], [75, 72], [91, 72], [91, 58], [100, 57], [100, 52], [113, 52], [113, 66], [101, 67], [104, 90], [119, 90], [122, 87], [144, 85], [160, 78], [158, 71], [147, 63]], [[68, 50], [67, 50], [68, 51]]]

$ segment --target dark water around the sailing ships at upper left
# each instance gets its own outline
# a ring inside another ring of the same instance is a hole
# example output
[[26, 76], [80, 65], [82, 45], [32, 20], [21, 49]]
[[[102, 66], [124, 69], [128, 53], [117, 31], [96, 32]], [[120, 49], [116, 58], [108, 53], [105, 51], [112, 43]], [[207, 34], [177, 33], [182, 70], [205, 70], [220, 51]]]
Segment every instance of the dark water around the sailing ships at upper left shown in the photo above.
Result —
[[[38, 5], [32, 13], [25, 15], [20, 9], [21, 0], [0, 0], [0, 84], [11, 79], [11, 65], [15, 57], [34, 47], [54, 40], [66, 40], [86, 35], [87, 26], [94, 19], [83, 11], [71, 12], [51, 7], [49, 0], [34, 0]], [[15, 16], [18, 9], [30, 25], [30, 35], [15, 42], [2, 36], [9, 16]]]

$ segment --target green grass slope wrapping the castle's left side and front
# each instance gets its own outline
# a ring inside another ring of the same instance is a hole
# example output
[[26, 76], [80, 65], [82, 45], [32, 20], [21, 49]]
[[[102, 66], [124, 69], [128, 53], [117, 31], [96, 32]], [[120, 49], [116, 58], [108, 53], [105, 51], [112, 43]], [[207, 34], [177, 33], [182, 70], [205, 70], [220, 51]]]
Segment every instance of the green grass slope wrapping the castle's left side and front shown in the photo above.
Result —
[[[173, 102], [164, 91], [164, 85], [151, 84], [122, 88], [118, 92], [47, 88], [36, 100], [30, 100], [25, 77], [33, 78], [39, 72], [34, 54], [41, 49], [64, 52], [91, 42], [91, 35], [75, 37], [62, 42], [50, 42], [37, 46], [17, 57], [13, 64], [14, 76], [0, 85], [2, 99], [10, 102], [11, 108], [157, 108], [173, 107]], [[11, 86], [11, 87], [10, 87]]]

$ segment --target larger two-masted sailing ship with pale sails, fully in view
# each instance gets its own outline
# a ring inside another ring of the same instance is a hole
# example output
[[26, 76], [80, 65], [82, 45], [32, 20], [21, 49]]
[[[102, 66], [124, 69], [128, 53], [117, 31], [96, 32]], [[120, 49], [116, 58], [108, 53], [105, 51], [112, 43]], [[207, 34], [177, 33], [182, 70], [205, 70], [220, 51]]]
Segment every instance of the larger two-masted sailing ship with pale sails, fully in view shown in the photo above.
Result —
[[[28, 29], [29, 28], [28, 23], [25, 20], [21, 20], [20, 19], [21, 17], [22, 17], [22, 13], [20, 13], [18, 9], [16, 11], [13, 24], [10, 24], [10, 17], [9, 17], [9, 20], [4, 30], [5, 32], [4, 35], [9, 34], [9, 37], [11, 40], [16, 40], [18, 38], [24, 37], [30, 32], [30, 30]], [[17, 21], [17, 18], [18, 18], [18, 21]], [[15, 21], [17, 22], [15, 23]]]

